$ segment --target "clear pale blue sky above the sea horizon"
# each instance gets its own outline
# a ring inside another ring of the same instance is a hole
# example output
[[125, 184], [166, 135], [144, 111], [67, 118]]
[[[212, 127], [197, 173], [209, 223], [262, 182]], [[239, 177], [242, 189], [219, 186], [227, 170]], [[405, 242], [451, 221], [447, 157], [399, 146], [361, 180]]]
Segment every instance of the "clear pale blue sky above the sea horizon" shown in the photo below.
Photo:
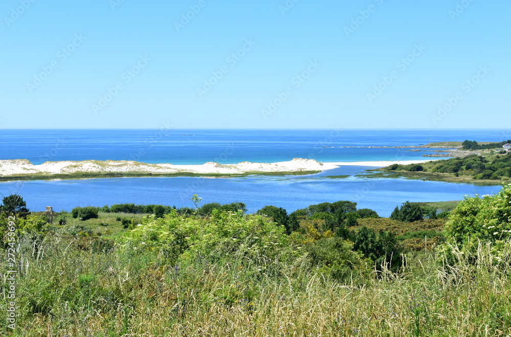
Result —
[[3, 0], [0, 128], [502, 128], [509, 13], [508, 0]]

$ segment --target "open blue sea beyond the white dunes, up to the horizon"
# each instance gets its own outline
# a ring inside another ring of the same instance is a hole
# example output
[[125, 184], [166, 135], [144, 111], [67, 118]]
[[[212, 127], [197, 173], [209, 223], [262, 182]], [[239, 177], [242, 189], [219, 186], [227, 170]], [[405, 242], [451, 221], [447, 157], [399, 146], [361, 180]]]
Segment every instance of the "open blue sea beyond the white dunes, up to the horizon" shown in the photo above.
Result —
[[467, 138], [501, 141], [495, 130], [13, 130], [0, 131], [0, 159], [235, 164], [309, 158], [323, 162], [424, 160], [421, 152], [369, 146], [419, 146]]

